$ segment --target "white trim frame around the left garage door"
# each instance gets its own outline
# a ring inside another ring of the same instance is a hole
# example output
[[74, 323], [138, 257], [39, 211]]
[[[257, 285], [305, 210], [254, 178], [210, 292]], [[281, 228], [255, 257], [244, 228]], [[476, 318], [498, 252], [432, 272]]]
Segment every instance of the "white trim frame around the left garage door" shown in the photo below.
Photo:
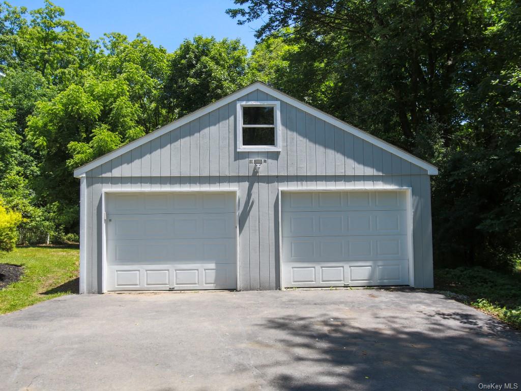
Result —
[[[102, 271], [101, 271], [101, 292], [105, 293], [107, 292], [107, 230], [106, 230], [106, 224], [107, 224], [107, 215], [106, 215], [106, 209], [105, 209], [105, 198], [106, 194], [114, 194], [114, 193], [121, 193], [121, 194], [128, 194], [128, 193], [235, 193], [235, 267], [237, 274], [237, 288], [236, 290], [241, 289], [241, 280], [240, 280], [240, 273], [239, 273], [239, 189], [197, 189], [197, 190], [190, 190], [190, 189], [105, 189], [102, 190], [101, 194], [101, 215], [102, 215]], [[99, 273], [99, 271], [98, 271]]]

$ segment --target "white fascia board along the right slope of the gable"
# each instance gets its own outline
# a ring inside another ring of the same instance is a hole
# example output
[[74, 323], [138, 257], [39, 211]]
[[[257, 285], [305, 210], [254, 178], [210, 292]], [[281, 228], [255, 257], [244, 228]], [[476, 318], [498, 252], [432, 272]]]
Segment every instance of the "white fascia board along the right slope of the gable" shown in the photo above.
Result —
[[324, 113], [324, 112], [320, 111], [318, 108], [309, 106], [308, 104], [306, 104], [304, 102], [298, 101], [295, 98], [293, 98], [289, 95], [286, 95], [281, 91], [272, 89], [271, 87], [269, 87], [269, 85], [266, 85], [264, 83], [260, 83], [260, 84], [261, 85], [256, 87], [259, 90], [264, 91], [272, 96], [275, 96], [276, 98], [280, 99], [281, 101], [287, 102], [287, 103], [291, 104], [292, 106], [295, 106], [296, 108], [299, 108], [306, 113], [314, 115], [315, 117], [320, 118], [331, 125], [334, 125], [340, 129], [350, 132], [352, 135], [355, 135], [356, 137], [366, 140], [366, 141], [370, 142], [371, 144], [379, 146], [380, 148], [382, 148], [386, 151], [389, 151], [389, 152], [395, 154], [396, 156], [400, 156], [404, 160], [411, 162], [411, 163], [417, 165], [418, 167], [425, 168], [429, 175], [438, 175], [438, 168], [436, 166], [433, 166], [432, 164], [427, 163], [424, 160], [421, 160], [419, 157], [416, 157], [416, 156], [404, 151], [403, 149], [398, 148], [398, 146], [390, 144], [387, 141], [383, 141], [382, 139], [379, 139], [378, 137], [370, 135], [369, 133], [364, 132], [361, 129], [355, 128], [353, 125], [350, 125], [336, 117], [333, 117], [332, 115]]

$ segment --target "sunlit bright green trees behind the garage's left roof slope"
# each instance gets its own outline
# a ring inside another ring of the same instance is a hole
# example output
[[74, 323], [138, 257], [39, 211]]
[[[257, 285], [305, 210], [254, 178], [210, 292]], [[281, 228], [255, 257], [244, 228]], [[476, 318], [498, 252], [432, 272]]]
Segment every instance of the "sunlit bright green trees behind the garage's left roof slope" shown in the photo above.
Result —
[[247, 83], [238, 40], [197, 36], [174, 53], [138, 34], [92, 41], [62, 8], [0, 5], [0, 194], [20, 242], [78, 232], [74, 168]]

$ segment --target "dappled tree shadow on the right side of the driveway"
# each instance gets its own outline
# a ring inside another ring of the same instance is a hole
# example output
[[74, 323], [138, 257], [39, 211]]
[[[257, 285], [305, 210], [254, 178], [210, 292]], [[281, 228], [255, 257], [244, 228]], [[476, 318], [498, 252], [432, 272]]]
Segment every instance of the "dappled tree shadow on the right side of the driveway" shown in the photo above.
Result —
[[[280, 334], [275, 345], [287, 352], [286, 359], [257, 369], [273, 373], [268, 383], [288, 391], [471, 390], [479, 383], [521, 383], [519, 335], [494, 320], [480, 324], [472, 314], [435, 311], [421, 319], [427, 326], [421, 331], [406, 326], [403, 316], [373, 320], [361, 326], [352, 316], [322, 314], [257, 324]], [[472, 330], [462, 333], [462, 325]]]

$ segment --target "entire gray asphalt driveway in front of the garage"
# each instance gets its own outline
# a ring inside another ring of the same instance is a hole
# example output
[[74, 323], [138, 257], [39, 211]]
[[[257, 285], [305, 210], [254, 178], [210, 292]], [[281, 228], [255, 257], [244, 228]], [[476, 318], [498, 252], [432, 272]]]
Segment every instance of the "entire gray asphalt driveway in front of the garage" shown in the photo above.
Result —
[[505, 389], [520, 364], [520, 334], [414, 290], [73, 295], [0, 316], [3, 390]]

